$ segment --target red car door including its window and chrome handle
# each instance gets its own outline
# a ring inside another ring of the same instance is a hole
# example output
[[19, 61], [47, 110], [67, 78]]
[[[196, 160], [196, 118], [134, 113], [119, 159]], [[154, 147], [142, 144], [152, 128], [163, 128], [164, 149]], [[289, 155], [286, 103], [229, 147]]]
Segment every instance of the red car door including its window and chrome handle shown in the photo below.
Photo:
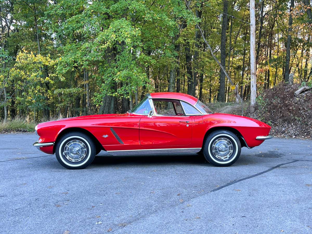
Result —
[[143, 147], [186, 146], [192, 141], [193, 122], [184, 116], [177, 100], [153, 99], [155, 112], [152, 117], [142, 117], [139, 139]]

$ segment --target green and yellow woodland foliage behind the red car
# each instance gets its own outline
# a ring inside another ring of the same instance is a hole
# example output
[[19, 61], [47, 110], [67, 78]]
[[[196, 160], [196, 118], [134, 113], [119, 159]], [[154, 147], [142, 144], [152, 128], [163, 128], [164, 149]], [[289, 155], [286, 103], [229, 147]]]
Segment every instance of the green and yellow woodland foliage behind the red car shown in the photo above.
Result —
[[[256, 1], [259, 91], [284, 82], [289, 37], [290, 73], [297, 83], [311, 79], [311, 3], [289, 6]], [[190, 7], [182, 0], [1, 0], [0, 118], [125, 112], [145, 94], [168, 90], [217, 101], [220, 67], [196, 23], [248, 99], [249, 1]], [[225, 80], [220, 100], [235, 100], [232, 88]]]

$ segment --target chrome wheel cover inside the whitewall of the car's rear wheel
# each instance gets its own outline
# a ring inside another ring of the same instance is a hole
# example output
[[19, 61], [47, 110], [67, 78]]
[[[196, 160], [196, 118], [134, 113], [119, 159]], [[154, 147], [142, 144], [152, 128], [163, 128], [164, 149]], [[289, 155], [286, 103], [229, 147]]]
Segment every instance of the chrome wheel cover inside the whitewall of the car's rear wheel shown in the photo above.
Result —
[[229, 159], [233, 154], [233, 149], [232, 142], [224, 137], [216, 139], [212, 144], [212, 153], [220, 160]]

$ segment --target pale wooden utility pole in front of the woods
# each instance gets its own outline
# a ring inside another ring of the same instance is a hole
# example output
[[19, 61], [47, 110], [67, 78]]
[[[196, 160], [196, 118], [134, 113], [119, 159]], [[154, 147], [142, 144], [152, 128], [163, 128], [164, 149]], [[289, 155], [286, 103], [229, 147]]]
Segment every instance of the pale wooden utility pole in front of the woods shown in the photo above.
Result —
[[[263, 0], [262, 0], [263, 1]], [[255, 0], [250, 0], [250, 112], [256, 106], [256, 16]]]

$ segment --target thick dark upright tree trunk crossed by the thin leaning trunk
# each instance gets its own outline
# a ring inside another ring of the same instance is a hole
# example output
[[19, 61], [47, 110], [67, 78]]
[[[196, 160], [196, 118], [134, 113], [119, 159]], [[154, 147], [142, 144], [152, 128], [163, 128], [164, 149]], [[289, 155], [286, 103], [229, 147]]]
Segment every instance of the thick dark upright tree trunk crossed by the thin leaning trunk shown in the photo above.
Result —
[[[222, 29], [221, 29], [221, 65], [225, 67], [226, 60], [226, 43], [227, 43], [227, 0], [223, 0], [223, 16], [222, 16]], [[220, 72], [220, 86], [217, 95], [217, 100], [220, 102], [225, 101], [225, 73], [221, 69]]]

